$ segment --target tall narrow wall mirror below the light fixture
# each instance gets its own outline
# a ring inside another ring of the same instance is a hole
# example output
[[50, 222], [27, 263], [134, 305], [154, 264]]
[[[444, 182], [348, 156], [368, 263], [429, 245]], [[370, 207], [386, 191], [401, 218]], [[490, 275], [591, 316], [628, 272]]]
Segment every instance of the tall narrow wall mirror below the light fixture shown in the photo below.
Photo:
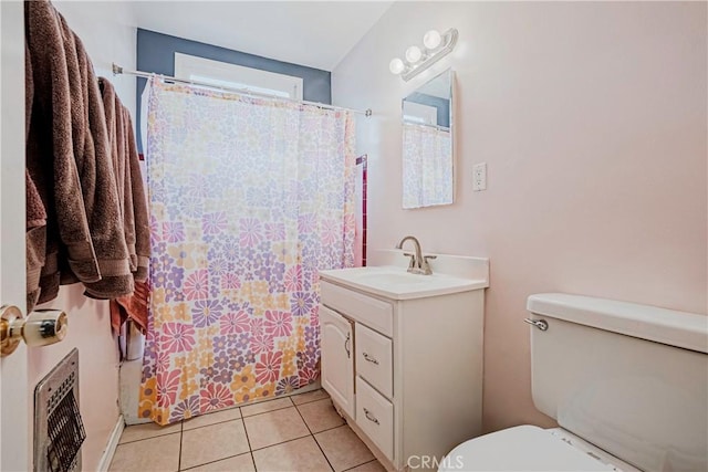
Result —
[[450, 204], [452, 71], [431, 78], [403, 99], [403, 208]]

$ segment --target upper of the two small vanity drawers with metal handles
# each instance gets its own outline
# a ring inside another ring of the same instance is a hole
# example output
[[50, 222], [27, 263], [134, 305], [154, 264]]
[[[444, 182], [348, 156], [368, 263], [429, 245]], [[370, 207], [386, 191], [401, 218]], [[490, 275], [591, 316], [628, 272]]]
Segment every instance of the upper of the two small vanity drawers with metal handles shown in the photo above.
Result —
[[393, 343], [361, 323], [356, 323], [356, 373], [385, 397], [392, 398]]

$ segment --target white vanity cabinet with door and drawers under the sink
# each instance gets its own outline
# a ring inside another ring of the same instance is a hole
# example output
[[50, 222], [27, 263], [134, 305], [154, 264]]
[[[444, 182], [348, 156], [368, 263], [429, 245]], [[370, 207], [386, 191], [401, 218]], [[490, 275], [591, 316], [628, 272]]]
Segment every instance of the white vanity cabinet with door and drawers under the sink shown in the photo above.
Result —
[[488, 283], [386, 296], [346, 271], [321, 274], [322, 386], [387, 469], [425, 470], [481, 432]]

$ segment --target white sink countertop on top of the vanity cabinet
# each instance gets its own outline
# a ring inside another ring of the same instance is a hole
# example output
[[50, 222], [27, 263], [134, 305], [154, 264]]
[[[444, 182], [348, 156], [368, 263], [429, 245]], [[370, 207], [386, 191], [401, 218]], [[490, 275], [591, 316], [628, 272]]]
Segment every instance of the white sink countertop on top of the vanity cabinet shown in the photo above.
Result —
[[485, 289], [487, 280], [462, 279], [447, 274], [418, 275], [399, 266], [367, 266], [320, 271], [320, 277], [393, 300], [423, 298]]

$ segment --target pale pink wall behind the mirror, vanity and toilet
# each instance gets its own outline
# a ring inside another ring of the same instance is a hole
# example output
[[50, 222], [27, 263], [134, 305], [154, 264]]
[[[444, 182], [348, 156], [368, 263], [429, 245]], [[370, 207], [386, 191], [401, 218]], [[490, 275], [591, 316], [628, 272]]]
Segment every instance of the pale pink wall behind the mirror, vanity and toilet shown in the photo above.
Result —
[[[388, 72], [450, 27], [459, 43], [434, 70], [407, 84]], [[335, 104], [374, 109], [357, 143], [369, 248], [410, 233], [426, 251], [490, 258], [487, 431], [553, 424], [531, 400], [528, 295], [706, 313], [707, 35], [706, 3], [397, 2], [333, 71]], [[457, 201], [404, 211], [400, 98], [448, 66]], [[472, 192], [482, 161], [488, 190]]]

